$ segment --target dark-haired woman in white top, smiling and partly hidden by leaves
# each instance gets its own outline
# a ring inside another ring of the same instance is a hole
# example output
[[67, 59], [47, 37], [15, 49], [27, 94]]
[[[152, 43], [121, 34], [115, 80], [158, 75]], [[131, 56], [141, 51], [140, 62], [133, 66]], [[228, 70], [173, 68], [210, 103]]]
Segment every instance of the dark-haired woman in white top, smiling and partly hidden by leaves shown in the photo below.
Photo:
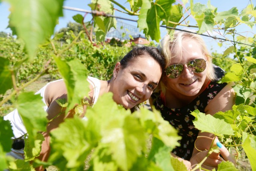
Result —
[[[131, 109], [150, 97], [160, 81], [164, 67], [164, 58], [157, 48], [135, 47], [116, 64], [113, 77], [110, 80], [98, 80], [97, 78], [88, 77], [90, 92], [85, 95], [84, 101], [94, 105], [98, 97], [103, 93], [112, 92], [113, 100], [117, 104], [126, 109]], [[62, 107], [55, 101], [56, 99], [67, 97], [67, 90], [63, 80], [50, 82], [37, 93], [40, 93], [43, 98], [49, 120], [53, 119], [58, 113], [63, 112]], [[84, 113], [86, 112], [86, 107], [84, 105]], [[55, 117], [53, 121], [49, 122], [47, 131], [43, 133], [45, 141], [42, 143], [40, 154], [42, 161], [45, 161], [49, 155], [49, 133], [52, 129], [58, 127], [64, 117], [68, 116], [58, 115], [58, 117]], [[17, 110], [6, 115], [4, 119], [11, 121], [14, 138], [27, 133]], [[14, 147], [21, 149], [12, 149], [10, 155], [23, 159], [22, 144], [20, 145], [20, 142], [17, 142]]]

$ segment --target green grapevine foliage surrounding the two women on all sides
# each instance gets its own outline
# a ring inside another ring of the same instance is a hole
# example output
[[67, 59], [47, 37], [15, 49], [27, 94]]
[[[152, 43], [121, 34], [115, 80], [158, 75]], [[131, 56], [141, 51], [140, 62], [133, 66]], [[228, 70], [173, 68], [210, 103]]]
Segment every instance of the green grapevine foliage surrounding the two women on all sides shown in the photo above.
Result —
[[[24, 135], [25, 160], [6, 157], [13, 134], [10, 123], [0, 118], [0, 137], [4, 139], [0, 140], [0, 170], [34, 170], [36, 165], [55, 165], [60, 170], [82, 170], [85, 160], [89, 163], [88, 170], [186, 169], [183, 163], [170, 156], [170, 151], [179, 145], [181, 137], [160, 113], [141, 109], [131, 114], [130, 110], [114, 103], [111, 93], [100, 97], [93, 108], [88, 107], [88, 120], [78, 117], [65, 119], [60, 127], [52, 131], [52, 151], [48, 162], [34, 160], [40, 153], [43, 141], [39, 132], [46, 130], [48, 120], [40, 96], [34, 95], [34, 92], [23, 92], [24, 88], [44, 74], [50, 74], [54, 79], [64, 78], [70, 102], [68, 109], [73, 109], [73, 105], [78, 103], [78, 108], [74, 110], [80, 113], [79, 103], [88, 93], [88, 89], [84, 89], [88, 87], [86, 76], [102, 80], [111, 78], [114, 64], [130, 48], [98, 44], [97, 41], [104, 41], [110, 28], [115, 28], [114, 18], [92, 15], [92, 20], [84, 23], [83, 16], [76, 15], [73, 18], [79, 24], [70, 23], [68, 28], [51, 39], [56, 20], [62, 16], [63, 0], [5, 1], [11, 6], [9, 27], [18, 39], [5, 35], [0, 37], [0, 111], [6, 111], [6, 103], [14, 103], [28, 134]], [[119, 6], [125, 14], [138, 16], [138, 28], [156, 42], [160, 40], [160, 24], [190, 27], [185, 9], [182, 4], [174, 5], [174, 0], [127, 2], [130, 10], [114, 0], [92, 0], [89, 6], [92, 10], [111, 15], [114, 15], [114, 6]], [[182, 2], [186, 4], [188, 1]], [[256, 13], [251, 5], [240, 13], [236, 7], [219, 12], [210, 1], [206, 5], [194, 4], [191, 0], [186, 10], [190, 10], [197, 22], [197, 26], [193, 27], [198, 28], [198, 33], [225, 27], [224, 36], [229, 34], [233, 40], [255, 46], [255, 36], [248, 38], [236, 34], [236, 26], [251, 28], [255, 25], [252, 19]], [[88, 34], [90, 29], [95, 32], [92, 36]], [[218, 135], [226, 147], [235, 149], [237, 159], [241, 159], [241, 154], [245, 153], [252, 170], [255, 170], [256, 48], [233, 45], [224, 54], [213, 53], [212, 56], [216, 58], [214, 64], [227, 72], [221, 82], [235, 83], [236, 105], [232, 110], [216, 113], [214, 117], [194, 111], [194, 125], [201, 131]], [[234, 54], [234, 59], [228, 58], [231, 54]], [[62, 105], [66, 107], [67, 104], [64, 102]], [[218, 170], [226, 168], [236, 170], [230, 162], [222, 162]]]

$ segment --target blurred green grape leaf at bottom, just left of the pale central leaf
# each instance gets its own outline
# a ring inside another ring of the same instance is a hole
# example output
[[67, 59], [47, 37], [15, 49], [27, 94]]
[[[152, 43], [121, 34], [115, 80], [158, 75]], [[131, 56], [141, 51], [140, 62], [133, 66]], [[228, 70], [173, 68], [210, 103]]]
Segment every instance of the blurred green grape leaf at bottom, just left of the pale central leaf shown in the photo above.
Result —
[[[89, 136], [87, 135], [89, 132], [86, 122], [82, 119], [76, 116], [65, 119], [64, 123], [51, 131], [52, 154], [48, 161], [55, 162], [54, 165], [60, 168], [80, 170], [91, 150], [90, 139], [88, 142]], [[63, 163], [63, 161], [66, 162]]]

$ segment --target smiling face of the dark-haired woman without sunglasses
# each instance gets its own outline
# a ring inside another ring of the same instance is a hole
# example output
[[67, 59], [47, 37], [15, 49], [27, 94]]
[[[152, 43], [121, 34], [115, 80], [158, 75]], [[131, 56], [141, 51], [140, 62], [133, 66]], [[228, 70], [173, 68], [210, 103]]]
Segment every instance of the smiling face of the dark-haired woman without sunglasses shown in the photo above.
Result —
[[138, 56], [122, 68], [120, 62], [114, 69], [113, 99], [130, 109], [149, 99], [161, 78], [161, 67], [149, 56]]

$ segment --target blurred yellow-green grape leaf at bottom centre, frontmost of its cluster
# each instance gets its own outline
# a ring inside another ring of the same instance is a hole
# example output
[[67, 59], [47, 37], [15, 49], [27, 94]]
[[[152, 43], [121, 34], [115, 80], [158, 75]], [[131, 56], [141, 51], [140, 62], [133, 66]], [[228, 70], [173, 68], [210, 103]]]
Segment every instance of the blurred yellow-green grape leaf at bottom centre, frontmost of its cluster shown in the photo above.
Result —
[[[112, 154], [112, 160], [118, 167], [127, 171], [138, 156], [142, 155], [142, 150], [145, 150], [146, 134], [138, 119], [132, 116], [127, 116], [124, 120], [118, 118], [112, 118], [113, 122], [102, 132], [101, 143], [108, 147], [108, 153]], [[115, 124], [116, 122], [123, 124]]]

